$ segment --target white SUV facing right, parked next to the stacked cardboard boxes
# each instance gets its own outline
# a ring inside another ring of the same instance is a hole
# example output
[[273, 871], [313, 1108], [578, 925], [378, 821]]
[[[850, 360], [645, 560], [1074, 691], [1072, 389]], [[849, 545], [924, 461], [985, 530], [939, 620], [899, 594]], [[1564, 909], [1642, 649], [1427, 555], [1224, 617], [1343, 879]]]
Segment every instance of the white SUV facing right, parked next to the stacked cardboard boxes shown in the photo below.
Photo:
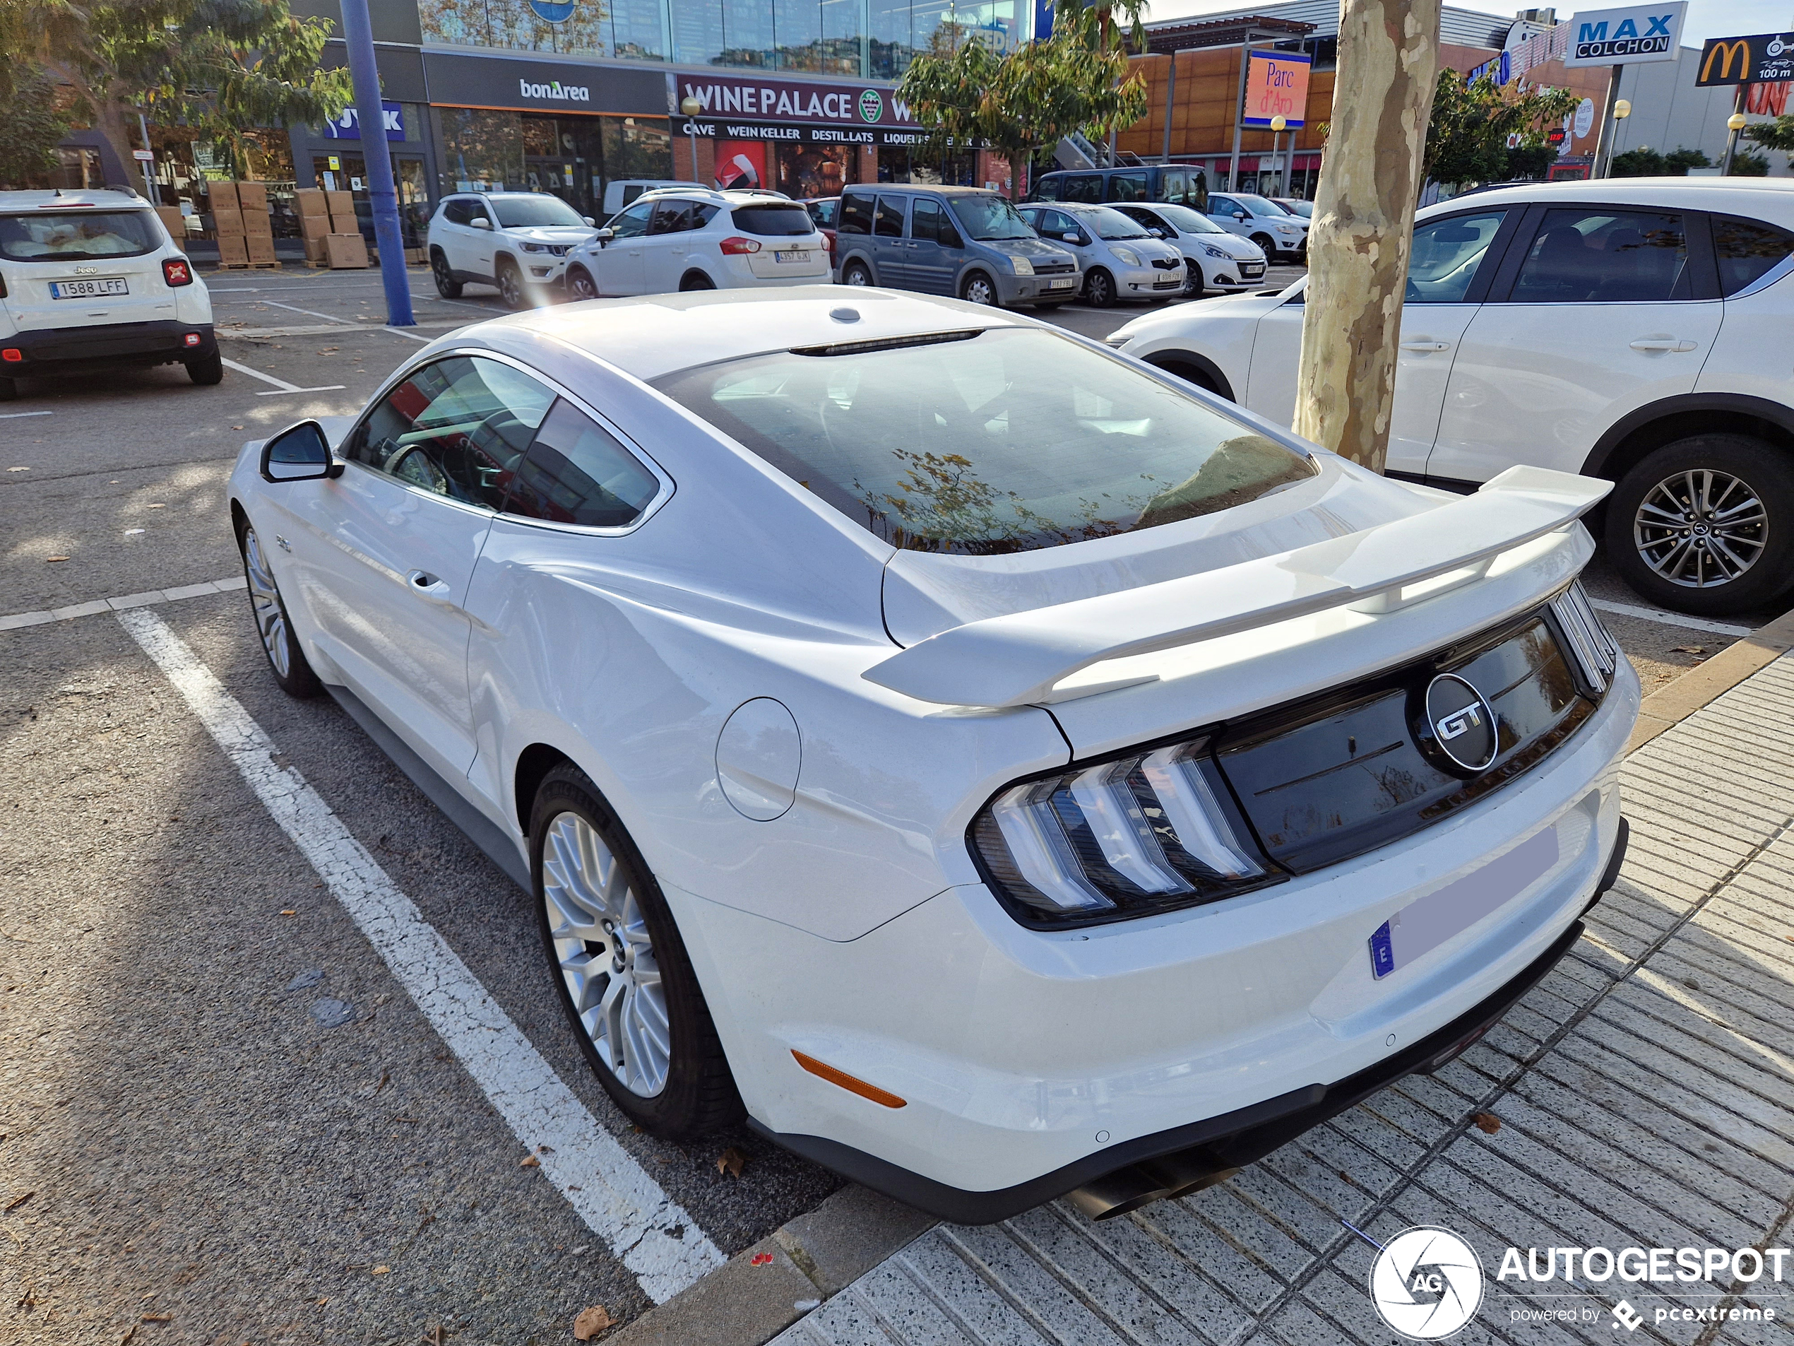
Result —
[[497, 285], [506, 309], [522, 309], [567, 278], [567, 253], [596, 233], [547, 192], [457, 192], [436, 203], [429, 255], [436, 293], [461, 296], [468, 282]]

